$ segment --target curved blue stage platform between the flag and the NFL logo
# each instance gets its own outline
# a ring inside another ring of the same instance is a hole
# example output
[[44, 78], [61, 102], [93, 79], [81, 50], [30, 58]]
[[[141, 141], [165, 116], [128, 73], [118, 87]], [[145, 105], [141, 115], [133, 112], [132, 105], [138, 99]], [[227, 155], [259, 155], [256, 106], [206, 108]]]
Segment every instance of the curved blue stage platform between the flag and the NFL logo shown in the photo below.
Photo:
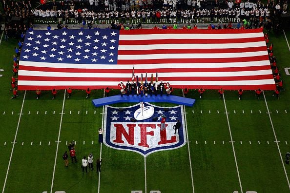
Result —
[[157, 96], [153, 95], [152, 97], [150, 96], [141, 97], [140, 95], [139, 96], [123, 95], [123, 97], [121, 97], [121, 95], [115, 95], [112, 97], [93, 99], [92, 102], [95, 107], [101, 107], [104, 105], [110, 105], [110, 104], [115, 104], [119, 102], [170, 102], [174, 104], [180, 104], [180, 105], [186, 105], [186, 106], [192, 107], [195, 102], [195, 99], [186, 98], [186, 97], [178, 97], [174, 95], [169, 95], [169, 96], [163, 95], [162, 97], [160, 95], [157, 95]]

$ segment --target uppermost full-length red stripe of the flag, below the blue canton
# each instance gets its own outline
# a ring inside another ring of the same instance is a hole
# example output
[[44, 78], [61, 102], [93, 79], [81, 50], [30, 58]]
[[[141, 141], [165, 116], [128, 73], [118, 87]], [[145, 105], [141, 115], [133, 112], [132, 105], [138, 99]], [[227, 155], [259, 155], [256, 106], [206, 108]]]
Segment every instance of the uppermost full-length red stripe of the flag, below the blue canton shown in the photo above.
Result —
[[[231, 68], [157, 68], [157, 69], [135, 69], [135, 73], [171, 73], [171, 72], [239, 72], [269, 70], [269, 65], [249, 66], [249, 67], [231, 67]], [[47, 68], [34, 66], [21, 66], [20, 70], [40, 71], [40, 72], [63, 72], [63, 73], [115, 73], [130, 74], [132, 70], [118, 69], [112, 72], [112, 69], [82, 69], [82, 68]]]

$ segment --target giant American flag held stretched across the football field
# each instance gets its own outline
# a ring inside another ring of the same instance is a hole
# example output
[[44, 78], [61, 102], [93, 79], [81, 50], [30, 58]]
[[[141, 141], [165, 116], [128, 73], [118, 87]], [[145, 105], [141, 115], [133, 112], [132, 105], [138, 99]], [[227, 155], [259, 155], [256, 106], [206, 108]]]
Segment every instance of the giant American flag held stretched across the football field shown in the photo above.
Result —
[[19, 90], [118, 88], [133, 66], [174, 88], [275, 89], [261, 29], [33, 30], [19, 64]]

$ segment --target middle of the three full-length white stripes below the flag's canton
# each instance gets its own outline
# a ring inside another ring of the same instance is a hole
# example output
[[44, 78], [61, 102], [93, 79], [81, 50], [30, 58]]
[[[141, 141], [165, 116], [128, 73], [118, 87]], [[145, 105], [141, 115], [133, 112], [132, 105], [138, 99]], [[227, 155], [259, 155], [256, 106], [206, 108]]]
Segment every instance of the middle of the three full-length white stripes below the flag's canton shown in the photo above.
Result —
[[[238, 72], [172, 72], [158, 73], [158, 77], [247, 77], [257, 75], [271, 75], [269, 70], [238, 71]], [[39, 77], [130, 77], [130, 73], [70, 73], [70, 72], [43, 72], [20, 70], [20, 76]], [[137, 74], [135, 74], [136, 76]]]

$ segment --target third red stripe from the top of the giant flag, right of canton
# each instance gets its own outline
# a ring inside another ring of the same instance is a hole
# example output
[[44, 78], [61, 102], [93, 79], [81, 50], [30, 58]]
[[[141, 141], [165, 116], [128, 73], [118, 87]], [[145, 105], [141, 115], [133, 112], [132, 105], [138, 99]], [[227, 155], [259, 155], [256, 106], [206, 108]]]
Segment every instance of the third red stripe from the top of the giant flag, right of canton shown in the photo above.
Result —
[[242, 53], [265, 51], [265, 47], [225, 48], [225, 49], [157, 49], [157, 50], [119, 50], [118, 55], [147, 55], [147, 54], [214, 54], [214, 53]]

